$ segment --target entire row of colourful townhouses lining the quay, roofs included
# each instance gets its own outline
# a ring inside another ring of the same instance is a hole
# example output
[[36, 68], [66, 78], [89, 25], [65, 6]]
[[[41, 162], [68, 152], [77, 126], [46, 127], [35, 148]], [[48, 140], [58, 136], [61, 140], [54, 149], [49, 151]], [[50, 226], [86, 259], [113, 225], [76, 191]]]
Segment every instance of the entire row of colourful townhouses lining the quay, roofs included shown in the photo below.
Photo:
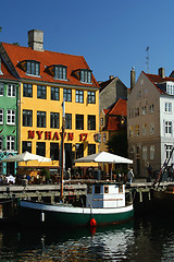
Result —
[[[66, 169], [75, 158], [107, 151], [126, 124], [136, 176], [147, 176], [149, 165], [160, 169], [174, 142], [173, 72], [141, 72], [135, 81], [133, 69], [127, 90], [114, 76], [97, 83], [82, 56], [44, 50], [44, 32], [28, 32], [28, 46], [0, 43], [0, 158], [28, 151], [51, 157], [40, 167], [58, 169], [64, 99]], [[14, 174], [15, 165], [1, 164], [0, 172]]]

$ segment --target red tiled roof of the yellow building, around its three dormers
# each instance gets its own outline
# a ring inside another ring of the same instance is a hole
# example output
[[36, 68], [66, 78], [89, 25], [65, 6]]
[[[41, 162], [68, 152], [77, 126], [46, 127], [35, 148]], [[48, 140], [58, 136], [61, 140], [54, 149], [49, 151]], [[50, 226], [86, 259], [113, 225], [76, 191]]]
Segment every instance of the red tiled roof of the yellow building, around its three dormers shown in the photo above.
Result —
[[[12, 63], [14, 64], [20, 78], [22, 79], [45, 81], [45, 82], [51, 82], [51, 83], [64, 83], [70, 85], [83, 85], [83, 86], [95, 85], [99, 87], [99, 84], [97, 83], [94, 75], [91, 79], [92, 84], [84, 84], [84, 83], [80, 83], [80, 81], [78, 81], [72, 74], [72, 72], [77, 69], [89, 69], [83, 56], [73, 56], [73, 55], [66, 55], [66, 53], [53, 52], [53, 51], [47, 51], [47, 50], [36, 51], [36, 50], [33, 50], [30, 47], [21, 47], [21, 46], [7, 44], [7, 43], [2, 43], [2, 45], [5, 51], [8, 52], [8, 56], [10, 57]], [[21, 67], [18, 67], [18, 62], [25, 61], [25, 60], [36, 60], [40, 62], [40, 78], [27, 75], [26, 72], [24, 72], [21, 69]], [[62, 64], [67, 67], [67, 81], [54, 80], [54, 78], [47, 72], [46, 68], [53, 64]]]

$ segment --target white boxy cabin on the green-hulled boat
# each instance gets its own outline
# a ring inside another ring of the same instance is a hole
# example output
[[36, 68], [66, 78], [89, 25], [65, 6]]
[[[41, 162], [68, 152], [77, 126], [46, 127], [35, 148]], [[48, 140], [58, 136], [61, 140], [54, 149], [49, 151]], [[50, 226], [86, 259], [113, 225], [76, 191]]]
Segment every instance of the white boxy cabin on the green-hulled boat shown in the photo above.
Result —
[[125, 184], [95, 183], [88, 186], [86, 206], [94, 209], [125, 206]]

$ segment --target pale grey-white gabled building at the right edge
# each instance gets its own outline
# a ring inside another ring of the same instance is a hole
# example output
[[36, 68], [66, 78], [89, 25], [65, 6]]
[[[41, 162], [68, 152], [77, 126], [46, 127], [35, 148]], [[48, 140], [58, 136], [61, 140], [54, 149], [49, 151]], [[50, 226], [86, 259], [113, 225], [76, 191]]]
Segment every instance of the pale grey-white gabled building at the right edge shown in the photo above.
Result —
[[[128, 155], [134, 160], [134, 172], [147, 177], [147, 168], [160, 169], [174, 145], [174, 78], [141, 72], [127, 100]], [[172, 164], [174, 156], [171, 158]]]

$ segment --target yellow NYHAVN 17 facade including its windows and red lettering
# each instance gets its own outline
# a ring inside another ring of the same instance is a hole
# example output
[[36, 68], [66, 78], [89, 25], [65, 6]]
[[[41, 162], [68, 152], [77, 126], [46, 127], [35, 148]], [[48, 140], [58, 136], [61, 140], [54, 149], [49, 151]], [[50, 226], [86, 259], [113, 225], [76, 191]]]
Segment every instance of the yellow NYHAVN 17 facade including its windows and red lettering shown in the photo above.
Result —
[[[30, 98], [23, 96], [27, 85], [33, 86], [33, 97]], [[95, 141], [95, 134], [99, 132], [99, 115], [97, 114], [99, 105], [98, 88], [90, 91], [78, 86], [77, 88], [66, 88], [66, 86], [59, 85], [42, 85], [47, 96], [42, 96], [46, 98], [37, 98], [38, 86], [37, 84], [28, 83], [21, 85], [20, 152], [28, 151], [52, 159], [51, 164], [42, 163], [41, 166], [55, 168], [60, 165], [63, 120], [62, 104], [64, 98], [66, 169], [72, 167], [74, 159], [97, 153], [98, 142]], [[71, 99], [67, 99], [66, 91], [71, 93]], [[77, 102], [78, 93], [83, 94], [80, 102]], [[94, 100], [90, 98], [91, 94]], [[83, 103], [83, 100], [88, 103]], [[32, 163], [32, 166], [35, 165], [38, 166], [38, 163]]]

